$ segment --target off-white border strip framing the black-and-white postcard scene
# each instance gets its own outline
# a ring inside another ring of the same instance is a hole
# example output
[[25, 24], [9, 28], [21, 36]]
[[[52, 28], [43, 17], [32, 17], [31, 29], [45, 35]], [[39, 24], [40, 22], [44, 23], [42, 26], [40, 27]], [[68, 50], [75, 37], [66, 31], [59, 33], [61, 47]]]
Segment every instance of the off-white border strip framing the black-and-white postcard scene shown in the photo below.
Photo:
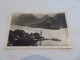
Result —
[[65, 13], [65, 12], [12, 12], [10, 14], [10, 19], [9, 19], [9, 26], [8, 26], [8, 31], [7, 31], [7, 38], [5, 42], [4, 49], [32, 49], [32, 48], [72, 48], [72, 40], [70, 37], [70, 31], [69, 31], [69, 26], [68, 26], [68, 21], [67, 21], [67, 14], [65, 13], [65, 19], [66, 19], [66, 24], [67, 24], [67, 29], [68, 29], [68, 34], [69, 34], [69, 41], [70, 45], [69, 46], [7, 46], [7, 41], [8, 41], [8, 35], [9, 35], [9, 30], [10, 30], [10, 24], [11, 24], [11, 18], [13, 13], [19, 13], [19, 14], [53, 14], [53, 13]]

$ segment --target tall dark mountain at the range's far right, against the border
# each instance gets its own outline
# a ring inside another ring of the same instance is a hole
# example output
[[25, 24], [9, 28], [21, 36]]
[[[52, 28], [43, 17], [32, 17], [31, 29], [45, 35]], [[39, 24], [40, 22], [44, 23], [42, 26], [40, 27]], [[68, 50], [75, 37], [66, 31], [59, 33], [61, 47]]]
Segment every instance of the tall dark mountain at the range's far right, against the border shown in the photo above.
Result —
[[67, 24], [66, 24], [66, 18], [65, 18], [65, 14], [64, 13], [58, 13], [57, 15], [55, 15], [54, 20], [56, 20], [57, 22], [57, 26], [60, 28], [67, 28]]

